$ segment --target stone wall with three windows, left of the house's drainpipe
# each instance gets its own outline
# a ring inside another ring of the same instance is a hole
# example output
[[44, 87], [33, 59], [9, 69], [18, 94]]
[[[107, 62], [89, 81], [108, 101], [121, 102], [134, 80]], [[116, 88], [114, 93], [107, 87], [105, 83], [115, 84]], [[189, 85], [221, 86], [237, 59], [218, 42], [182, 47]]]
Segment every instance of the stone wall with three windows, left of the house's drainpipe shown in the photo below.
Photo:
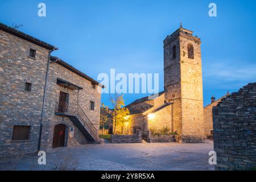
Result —
[[[30, 48], [36, 57], [28, 57]], [[48, 50], [0, 30], [0, 155], [38, 150]], [[25, 92], [31, 82], [31, 92]], [[31, 126], [29, 140], [12, 141], [14, 125]]]

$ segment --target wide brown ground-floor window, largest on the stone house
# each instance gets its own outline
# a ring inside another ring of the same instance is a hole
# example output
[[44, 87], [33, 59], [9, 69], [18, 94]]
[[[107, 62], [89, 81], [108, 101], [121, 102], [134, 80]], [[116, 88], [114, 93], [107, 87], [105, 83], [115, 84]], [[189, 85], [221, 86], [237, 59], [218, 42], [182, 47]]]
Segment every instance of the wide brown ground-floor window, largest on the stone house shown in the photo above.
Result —
[[11, 140], [28, 140], [30, 126], [14, 126]]

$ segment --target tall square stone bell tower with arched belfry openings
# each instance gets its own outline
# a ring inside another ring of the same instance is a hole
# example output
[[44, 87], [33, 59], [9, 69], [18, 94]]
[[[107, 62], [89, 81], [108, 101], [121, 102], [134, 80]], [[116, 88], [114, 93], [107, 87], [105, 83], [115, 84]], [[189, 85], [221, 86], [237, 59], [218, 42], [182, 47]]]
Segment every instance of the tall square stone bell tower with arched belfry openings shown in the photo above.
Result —
[[164, 40], [164, 97], [173, 102], [172, 130], [183, 143], [205, 139], [200, 45], [182, 26]]

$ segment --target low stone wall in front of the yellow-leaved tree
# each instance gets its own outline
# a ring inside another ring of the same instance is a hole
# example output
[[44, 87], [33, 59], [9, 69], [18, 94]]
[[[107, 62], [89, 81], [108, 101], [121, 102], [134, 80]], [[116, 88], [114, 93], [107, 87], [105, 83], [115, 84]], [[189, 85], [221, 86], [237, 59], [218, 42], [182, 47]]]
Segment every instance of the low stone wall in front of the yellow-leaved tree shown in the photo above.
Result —
[[138, 135], [111, 135], [111, 143], [142, 143], [142, 138]]

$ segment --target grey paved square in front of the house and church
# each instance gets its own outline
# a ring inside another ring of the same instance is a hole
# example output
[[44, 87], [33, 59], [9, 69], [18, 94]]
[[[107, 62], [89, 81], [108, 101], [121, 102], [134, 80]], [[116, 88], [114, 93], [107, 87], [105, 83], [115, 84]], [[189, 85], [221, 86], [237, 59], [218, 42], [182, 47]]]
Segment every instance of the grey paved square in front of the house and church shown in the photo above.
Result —
[[55, 148], [47, 152], [47, 165], [39, 166], [38, 156], [27, 156], [0, 169], [15, 170], [214, 170], [208, 163], [208, 143], [86, 144]]

